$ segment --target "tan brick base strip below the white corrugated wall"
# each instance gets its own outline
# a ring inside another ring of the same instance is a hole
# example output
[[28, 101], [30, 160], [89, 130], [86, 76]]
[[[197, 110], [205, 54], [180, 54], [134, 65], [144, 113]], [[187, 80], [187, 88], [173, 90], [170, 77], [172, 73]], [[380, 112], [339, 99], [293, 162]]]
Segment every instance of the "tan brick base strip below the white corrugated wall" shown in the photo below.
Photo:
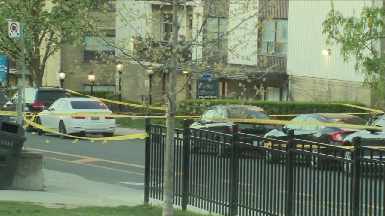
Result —
[[372, 93], [362, 83], [292, 76], [290, 92], [295, 101], [358, 101], [372, 106]]

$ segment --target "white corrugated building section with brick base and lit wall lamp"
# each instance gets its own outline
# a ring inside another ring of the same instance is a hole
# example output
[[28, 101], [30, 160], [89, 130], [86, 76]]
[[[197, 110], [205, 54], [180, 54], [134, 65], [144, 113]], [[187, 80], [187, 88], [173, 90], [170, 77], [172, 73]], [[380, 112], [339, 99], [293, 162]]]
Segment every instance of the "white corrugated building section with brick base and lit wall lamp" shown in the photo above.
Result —
[[[383, 1], [374, 1], [382, 7]], [[333, 1], [344, 16], [360, 16], [363, 4], [371, 1]], [[326, 46], [322, 22], [330, 1], [290, 1], [287, 71], [290, 93], [295, 101], [360, 101], [373, 106], [375, 97], [363, 87], [364, 75], [355, 73], [354, 57], [345, 63], [340, 46]], [[377, 44], [380, 50], [380, 43]], [[382, 47], [381, 50], [383, 50]]]

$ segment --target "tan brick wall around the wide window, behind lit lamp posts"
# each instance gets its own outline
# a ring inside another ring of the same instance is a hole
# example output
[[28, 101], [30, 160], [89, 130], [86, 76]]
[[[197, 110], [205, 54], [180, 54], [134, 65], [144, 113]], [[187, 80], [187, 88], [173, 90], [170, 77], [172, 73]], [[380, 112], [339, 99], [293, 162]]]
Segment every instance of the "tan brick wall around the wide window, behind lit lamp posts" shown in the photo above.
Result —
[[[107, 14], [94, 12], [95, 17], [101, 17], [101, 27], [115, 28], [115, 12]], [[114, 85], [116, 66], [113, 63], [87, 63], [84, 62], [84, 47], [73, 47], [65, 43], [60, 51], [61, 67], [66, 72], [64, 87], [70, 90], [83, 90], [83, 85], [89, 84], [87, 74], [90, 70], [96, 74], [95, 85]], [[57, 73], [57, 71], [56, 71]]]

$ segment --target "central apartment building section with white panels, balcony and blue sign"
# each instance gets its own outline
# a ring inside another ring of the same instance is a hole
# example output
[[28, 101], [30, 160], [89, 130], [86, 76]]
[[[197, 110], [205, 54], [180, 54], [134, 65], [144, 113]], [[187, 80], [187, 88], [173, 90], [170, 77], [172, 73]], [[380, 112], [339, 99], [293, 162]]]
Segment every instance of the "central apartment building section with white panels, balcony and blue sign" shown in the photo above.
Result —
[[[227, 37], [218, 39], [215, 47], [196, 47], [191, 49], [192, 51], [190, 50], [191, 53], [187, 52], [185, 61], [202, 61], [202, 58], [204, 58], [207, 65], [203, 67], [202, 65], [192, 64], [190, 65], [191, 71], [180, 68], [177, 89], [181, 91], [177, 95], [177, 100], [196, 97], [196, 83], [192, 82], [191, 85], [182, 88], [186, 83], [187, 73], [193, 73], [195, 78], [199, 78], [203, 73], [218, 75], [220, 78], [218, 80], [217, 96], [222, 98], [286, 100], [286, 89], [288, 89], [286, 75], [288, 1], [276, 1], [275, 4], [270, 5], [267, 5], [266, 2], [271, 1], [245, 1], [255, 5], [266, 4], [261, 7], [264, 8], [261, 10], [263, 12], [256, 16], [253, 15], [258, 10], [250, 9], [247, 13], [244, 13], [241, 9], [244, 5], [239, 4], [239, 1], [203, 1], [203, 5], [201, 1], [197, 2], [199, 2], [199, 6], [191, 3], [191, 5], [181, 8], [180, 13], [184, 13], [184, 16], [181, 19], [179, 37], [198, 35], [199, 27], [203, 23], [202, 15], [208, 15], [205, 25], [218, 28], [213, 30], [213, 32], [217, 33], [217, 37], [220, 36], [221, 32], [219, 28], [225, 28], [225, 31], [236, 29], [234, 33]], [[132, 13], [123, 8], [140, 11], [142, 18], [134, 18]], [[249, 8], [253, 8], [253, 6], [250, 5]], [[172, 28], [169, 24], [172, 19], [171, 5], [157, 1], [121, 0], [117, 1], [117, 10], [126, 11], [125, 13], [118, 12], [116, 18], [116, 38], [118, 42], [127, 43], [127, 41], [131, 40], [129, 37], [135, 38], [132, 40], [137, 40], [137, 38], [142, 40], [142, 38], [146, 37], [159, 36], [160, 41], [168, 40], [168, 33], [171, 32], [170, 29]], [[267, 18], [271, 17], [271, 15], [274, 16], [273, 20], [267, 22]], [[148, 19], [146, 20], [143, 17], [148, 17]], [[129, 24], [127, 23], [128, 20]], [[238, 26], [242, 20], [246, 21]], [[263, 28], [269, 28], [269, 31], [272, 32], [262, 33], [261, 29], [252, 28], [258, 21], [264, 23]], [[280, 35], [274, 33], [276, 31]], [[213, 34], [211, 36], [215, 37]], [[259, 40], [259, 38], [262, 38], [262, 40]], [[204, 42], [204, 40], [204, 34], [199, 34], [197, 41]], [[280, 46], [276, 46], [278, 43], [280, 43]], [[231, 47], [231, 52], [228, 51], [228, 48], [222, 48], [223, 44]], [[135, 48], [135, 45], [132, 45], [132, 49]], [[260, 53], [258, 53], [258, 50], [261, 50]], [[148, 61], [143, 62], [150, 64]], [[222, 71], [214, 69], [218, 63], [229, 64], [233, 68], [233, 72], [224, 75]], [[167, 73], [144, 70], [140, 63], [135, 61], [124, 64], [122, 73], [122, 79], [125, 79], [122, 85], [124, 98], [140, 101], [142, 98], [148, 98], [151, 91], [153, 99], [160, 99], [163, 93], [168, 91], [169, 78]], [[151, 65], [156, 67], [157, 64], [152, 62]], [[266, 70], [271, 66], [274, 68], [273, 71]], [[148, 72], [151, 72], [151, 78], [148, 76]], [[262, 91], [266, 91], [266, 94], [263, 92], [256, 93], [261, 86], [263, 86]]]

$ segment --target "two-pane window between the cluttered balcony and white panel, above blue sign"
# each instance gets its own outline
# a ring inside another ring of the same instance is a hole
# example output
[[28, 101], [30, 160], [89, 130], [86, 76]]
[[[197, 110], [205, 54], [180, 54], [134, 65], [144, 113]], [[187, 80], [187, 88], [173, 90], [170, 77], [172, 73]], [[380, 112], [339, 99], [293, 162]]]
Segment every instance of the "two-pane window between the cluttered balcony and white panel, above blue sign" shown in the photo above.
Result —
[[[206, 21], [206, 37], [204, 40], [210, 41], [205, 48], [224, 49], [228, 47], [227, 36], [221, 37], [229, 31], [228, 18], [208, 17]], [[219, 38], [220, 39], [216, 39]]]

